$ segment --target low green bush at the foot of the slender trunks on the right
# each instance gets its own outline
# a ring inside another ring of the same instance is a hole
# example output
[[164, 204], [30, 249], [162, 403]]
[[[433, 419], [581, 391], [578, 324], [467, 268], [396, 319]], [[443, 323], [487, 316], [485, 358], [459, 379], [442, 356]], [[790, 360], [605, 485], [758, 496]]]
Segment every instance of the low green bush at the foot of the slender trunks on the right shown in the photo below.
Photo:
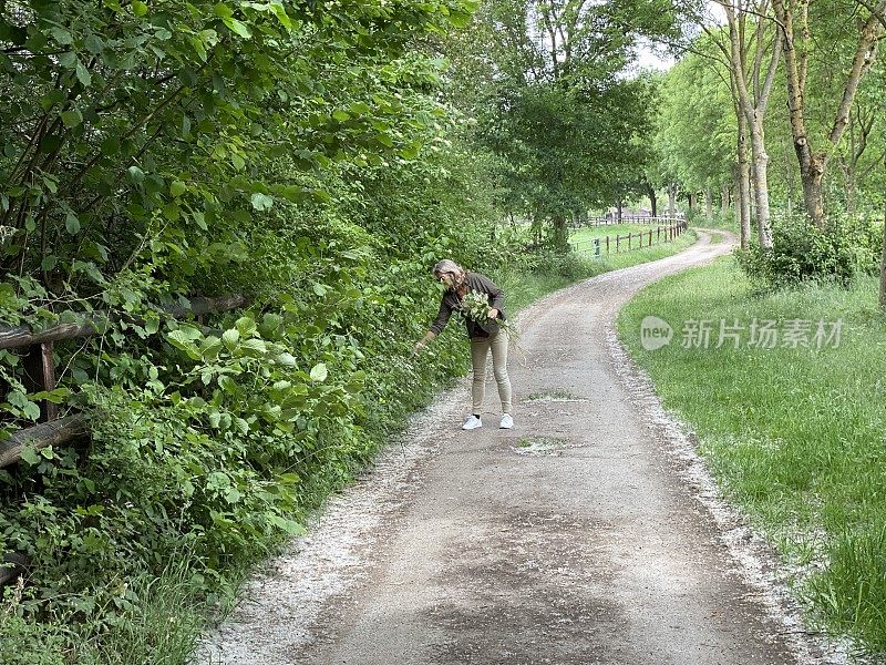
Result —
[[735, 256], [752, 280], [767, 287], [822, 280], [845, 285], [876, 270], [880, 233], [866, 219], [834, 217], [820, 229], [805, 215], [773, 215], [772, 247], [753, 244]]

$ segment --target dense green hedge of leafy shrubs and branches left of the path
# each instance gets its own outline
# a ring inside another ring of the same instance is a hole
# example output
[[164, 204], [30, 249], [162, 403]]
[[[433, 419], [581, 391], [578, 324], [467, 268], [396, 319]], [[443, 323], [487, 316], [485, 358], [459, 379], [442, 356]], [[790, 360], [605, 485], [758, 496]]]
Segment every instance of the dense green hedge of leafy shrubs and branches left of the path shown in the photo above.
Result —
[[[435, 260], [511, 252], [444, 64], [419, 48], [473, 9], [0, 3], [0, 320], [105, 321], [55, 345], [51, 395], [0, 351], [0, 437], [41, 399], [92, 429], [0, 470], [0, 553], [30, 561], [4, 590], [0, 661], [119, 657], [178, 597], [140, 580], [224, 590], [463, 370], [457, 329], [409, 350]], [[226, 294], [253, 304], [165, 314]]]

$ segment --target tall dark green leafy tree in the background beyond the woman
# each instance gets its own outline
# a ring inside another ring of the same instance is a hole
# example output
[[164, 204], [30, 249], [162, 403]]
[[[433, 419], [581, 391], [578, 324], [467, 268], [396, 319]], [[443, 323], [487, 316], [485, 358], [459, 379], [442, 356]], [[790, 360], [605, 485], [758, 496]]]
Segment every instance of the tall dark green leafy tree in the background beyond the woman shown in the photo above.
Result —
[[651, 89], [625, 72], [636, 34], [667, 24], [652, 4], [494, 0], [481, 10], [494, 65], [478, 137], [505, 160], [507, 200], [560, 247], [569, 219], [641, 180]]

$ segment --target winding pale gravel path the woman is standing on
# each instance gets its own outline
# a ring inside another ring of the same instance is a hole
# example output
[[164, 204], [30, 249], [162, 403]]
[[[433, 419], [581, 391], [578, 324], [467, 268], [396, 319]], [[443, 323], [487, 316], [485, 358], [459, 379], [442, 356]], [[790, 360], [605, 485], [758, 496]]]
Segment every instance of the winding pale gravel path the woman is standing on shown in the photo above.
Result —
[[615, 341], [639, 288], [731, 248], [709, 239], [526, 310], [515, 428], [497, 429], [492, 381], [480, 430], [459, 429], [465, 385], [442, 395], [250, 583], [200, 662], [831, 662], [749, 580], [727, 544], [741, 531], [699, 501], [710, 488]]

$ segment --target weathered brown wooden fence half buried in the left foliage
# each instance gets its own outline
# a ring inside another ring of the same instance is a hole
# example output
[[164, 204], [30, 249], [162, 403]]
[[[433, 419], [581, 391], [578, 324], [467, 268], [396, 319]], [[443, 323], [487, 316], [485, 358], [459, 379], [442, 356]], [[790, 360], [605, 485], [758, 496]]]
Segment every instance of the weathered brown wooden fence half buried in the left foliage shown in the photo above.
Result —
[[[188, 306], [172, 306], [165, 308], [169, 317], [184, 316], [199, 317], [245, 307], [249, 300], [244, 296], [227, 296], [223, 298], [194, 298]], [[0, 327], [0, 349], [24, 349], [22, 356], [23, 380], [28, 392], [51, 391], [56, 387], [54, 342], [78, 337], [91, 337], [106, 330], [114, 320], [107, 313], [96, 313], [85, 320], [76, 324], [63, 324], [42, 330], [32, 331], [27, 326]], [[49, 446], [61, 446], [89, 434], [89, 423], [80, 413], [59, 418], [58, 405], [44, 400], [40, 406], [38, 424], [22, 428], [0, 441], [0, 468], [8, 467], [21, 459], [21, 452], [27, 446], [35, 449]], [[24, 570], [28, 561], [19, 553], [7, 554], [0, 564], [0, 586], [14, 580]]]

